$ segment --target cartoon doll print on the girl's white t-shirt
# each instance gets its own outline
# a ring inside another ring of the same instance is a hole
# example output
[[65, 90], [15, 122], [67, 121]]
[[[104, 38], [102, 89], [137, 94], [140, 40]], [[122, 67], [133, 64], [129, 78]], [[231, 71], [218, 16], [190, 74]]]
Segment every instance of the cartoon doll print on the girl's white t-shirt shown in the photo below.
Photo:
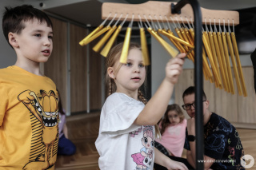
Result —
[[134, 162], [137, 164], [136, 170], [150, 169], [154, 155], [154, 129], [152, 126], [143, 126], [143, 137], [140, 152], [131, 155]]

